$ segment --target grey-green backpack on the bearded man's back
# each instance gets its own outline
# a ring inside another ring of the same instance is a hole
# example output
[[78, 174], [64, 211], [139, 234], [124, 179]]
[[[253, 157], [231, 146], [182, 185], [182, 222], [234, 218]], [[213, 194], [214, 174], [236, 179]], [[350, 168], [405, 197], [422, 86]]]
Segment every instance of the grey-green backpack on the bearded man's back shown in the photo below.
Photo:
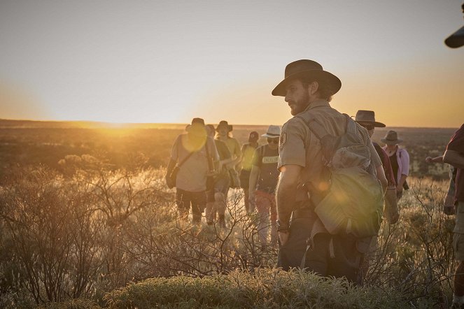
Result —
[[[377, 235], [384, 210], [384, 192], [370, 165], [370, 149], [358, 134], [356, 122], [348, 115], [345, 133], [332, 136], [309, 113], [297, 115], [321, 141], [328, 170], [329, 187], [318, 197], [316, 215], [332, 234], [353, 234], [356, 238]], [[311, 199], [311, 201], [314, 201]]]

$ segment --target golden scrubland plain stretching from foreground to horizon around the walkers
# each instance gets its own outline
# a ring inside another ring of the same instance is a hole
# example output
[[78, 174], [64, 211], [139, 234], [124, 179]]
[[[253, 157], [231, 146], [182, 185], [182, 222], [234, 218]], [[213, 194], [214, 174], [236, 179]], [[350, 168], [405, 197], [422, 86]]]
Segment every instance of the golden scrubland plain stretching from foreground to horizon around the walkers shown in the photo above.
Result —
[[[382, 224], [365, 285], [353, 287], [275, 269], [277, 248], [260, 247], [241, 190], [225, 229], [178, 220], [162, 178], [184, 126], [0, 121], [0, 307], [449, 306], [448, 169], [423, 161], [442, 154], [454, 129], [397, 128], [411, 189], [398, 224]], [[265, 129], [237, 126], [234, 136], [244, 143]]]

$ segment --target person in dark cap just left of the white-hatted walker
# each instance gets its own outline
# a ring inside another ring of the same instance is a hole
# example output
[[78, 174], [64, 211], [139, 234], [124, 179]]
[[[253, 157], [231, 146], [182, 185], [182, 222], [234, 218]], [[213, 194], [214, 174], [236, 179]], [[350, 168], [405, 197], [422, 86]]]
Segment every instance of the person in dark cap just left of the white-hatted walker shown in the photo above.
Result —
[[246, 213], [252, 213], [253, 210], [250, 210], [250, 190], [248, 189], [250, 182], [250, 173], [253, 160], [253, 154], [255, 153], [256, 148], [258, 148], [258, 139], [260, 136], [257, 131], [250, 132], [248, 136], [248, 143], [245, 143], [241, 146], [241, 171], [240, 171], [240, 187], [244, 189], [244, 201], [245, 201], [245, 210]]

